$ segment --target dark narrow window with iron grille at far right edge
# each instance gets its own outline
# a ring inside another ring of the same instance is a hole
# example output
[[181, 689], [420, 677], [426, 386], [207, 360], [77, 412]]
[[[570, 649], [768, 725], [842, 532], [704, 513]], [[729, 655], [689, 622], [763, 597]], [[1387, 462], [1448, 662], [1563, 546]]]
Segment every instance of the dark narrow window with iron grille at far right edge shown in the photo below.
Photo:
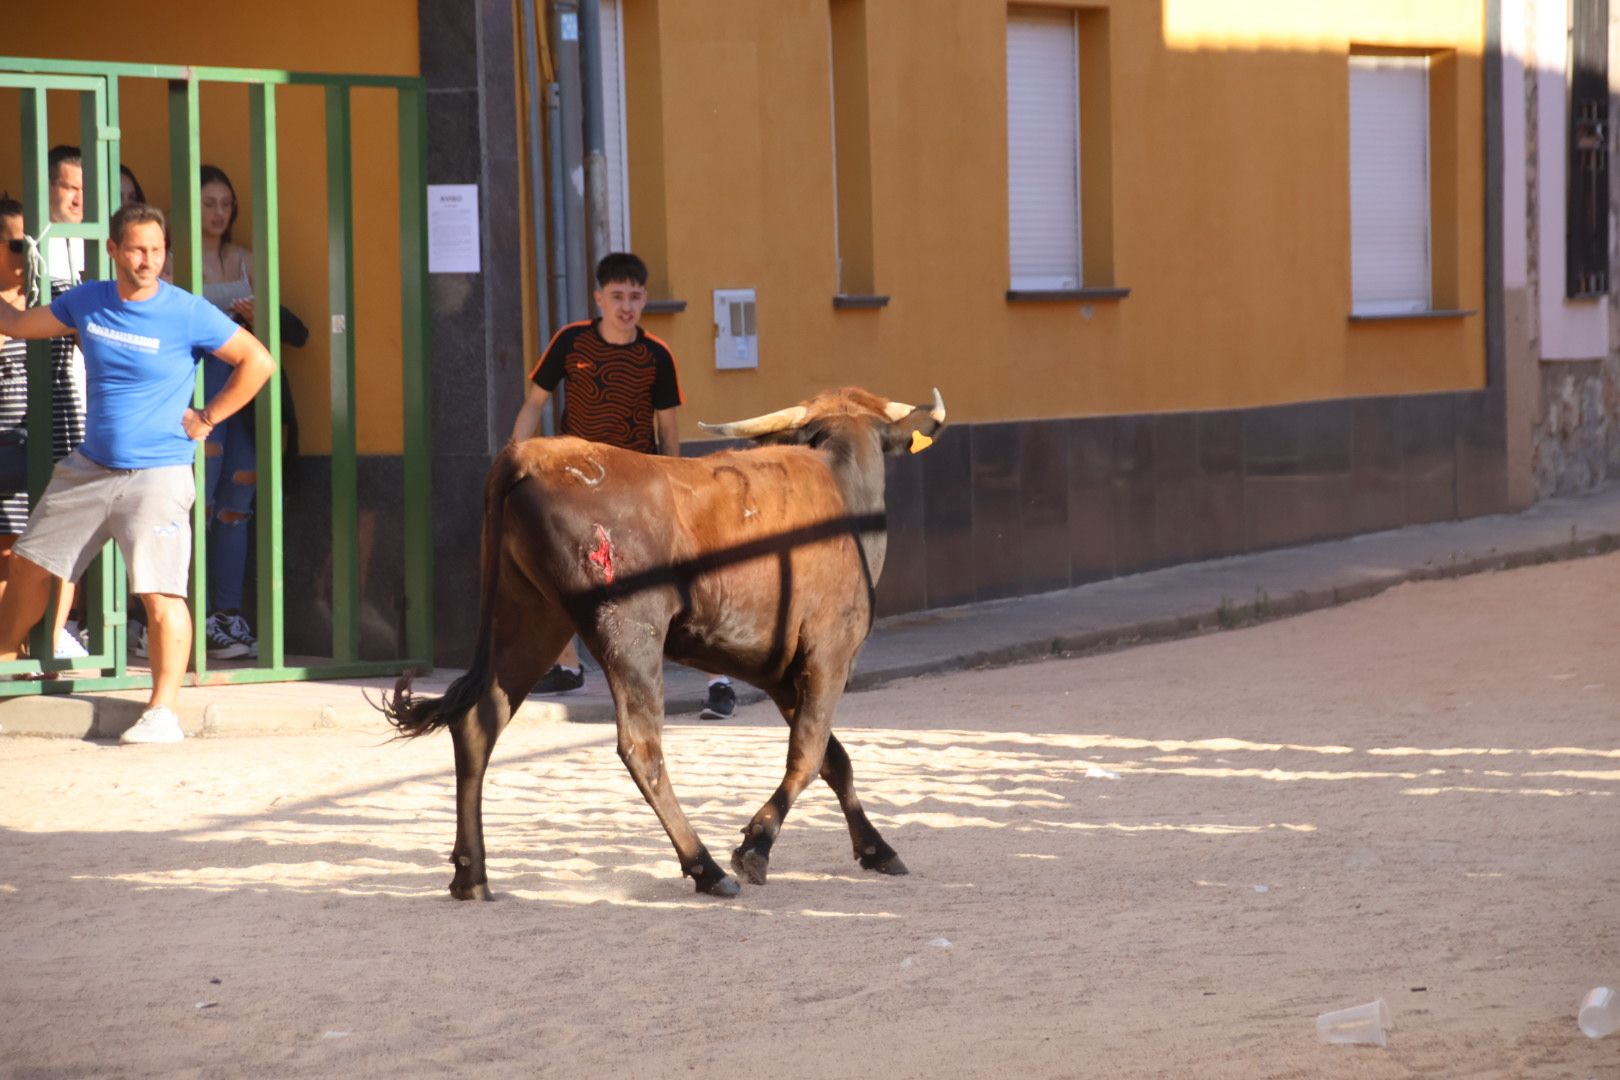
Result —
[[1573, 0], [1570, 39], [1570, 300], [1609, 291], [1609, 0]]

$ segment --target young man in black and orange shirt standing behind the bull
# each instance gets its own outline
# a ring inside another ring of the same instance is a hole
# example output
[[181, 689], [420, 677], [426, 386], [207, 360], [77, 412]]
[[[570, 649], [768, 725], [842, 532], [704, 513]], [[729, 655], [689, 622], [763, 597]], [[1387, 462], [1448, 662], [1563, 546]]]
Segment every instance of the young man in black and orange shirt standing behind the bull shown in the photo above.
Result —
[[[539, 431], [541, 410], [562, 384], [562, 434], [680, 457], [676, 410], [682, 397], [676, 356], [669, 345], [642, 329], [646, 264], [629, 251], [604, 256], [596, 264], [595, 300], [601, 316], [557, 330], [530, 372], [528, 397], [512, 424], [512, 439], [530, 439]], [[583, 685], [585, 669], [570, 640], [535, 691], [567, 693]], [[724, 719], [735, 708], [731, 680], [711, 678], [701, 716]]]

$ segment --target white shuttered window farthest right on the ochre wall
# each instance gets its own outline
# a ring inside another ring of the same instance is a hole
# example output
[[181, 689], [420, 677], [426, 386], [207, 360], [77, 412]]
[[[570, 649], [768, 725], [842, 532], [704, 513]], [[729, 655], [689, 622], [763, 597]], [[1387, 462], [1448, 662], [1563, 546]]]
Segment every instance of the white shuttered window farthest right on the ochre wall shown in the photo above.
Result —
[[1351, 309], [1432, 308], [1429, 58], [1349, 57]]

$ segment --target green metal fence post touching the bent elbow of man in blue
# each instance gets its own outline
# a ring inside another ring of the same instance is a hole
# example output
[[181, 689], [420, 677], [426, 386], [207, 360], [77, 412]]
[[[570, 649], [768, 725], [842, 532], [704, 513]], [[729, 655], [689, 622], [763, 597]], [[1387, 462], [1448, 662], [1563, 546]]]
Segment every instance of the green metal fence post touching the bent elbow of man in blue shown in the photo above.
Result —
[[253, 131], [253, 280], [254, 322], [275, 358], [275, 371], [253, 408], [258, 410], [258, 593], [259, 667], [282, 667], [287, 643], [282, 628], [282, 254], [280, 194], [277, 188], [275, 87], [248, 87], [248, 125]]

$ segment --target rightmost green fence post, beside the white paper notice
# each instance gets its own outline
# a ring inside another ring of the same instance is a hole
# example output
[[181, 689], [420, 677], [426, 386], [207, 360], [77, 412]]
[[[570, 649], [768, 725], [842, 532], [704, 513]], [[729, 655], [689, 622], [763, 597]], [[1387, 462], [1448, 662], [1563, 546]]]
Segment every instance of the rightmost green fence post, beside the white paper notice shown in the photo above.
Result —
[[405, 656], [433, 662], [433, 444], [428, 369], [428, 102], [399, 92], [400, 343], [405, 390]]

